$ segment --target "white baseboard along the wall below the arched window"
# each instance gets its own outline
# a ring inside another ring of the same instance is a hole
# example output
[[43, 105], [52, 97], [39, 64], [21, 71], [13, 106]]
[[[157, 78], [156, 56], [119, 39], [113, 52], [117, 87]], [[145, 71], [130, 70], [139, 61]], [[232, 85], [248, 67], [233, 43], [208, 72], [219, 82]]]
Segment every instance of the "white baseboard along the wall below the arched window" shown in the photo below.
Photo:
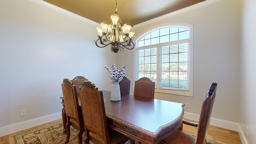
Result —
[[[195, 120], [195, 121], [198, 122], [199, 114], [184, 112], [184, 118], [187, 118], [187, 119], [190, 119], [190, 120]], [[236, 131], [236, 132], [240, 132], [239, 123], [236, 123], [236, 122], [230, 122], [230, 121], [227, 121], [227, 120], [221, 120], [221, 119], [218, 119], [218, 118], [212, 118], [211, 117], [210, 125], [218, 126], [220, 128], [226, 128], [228, 130], [233, 130], [233, 131]]]

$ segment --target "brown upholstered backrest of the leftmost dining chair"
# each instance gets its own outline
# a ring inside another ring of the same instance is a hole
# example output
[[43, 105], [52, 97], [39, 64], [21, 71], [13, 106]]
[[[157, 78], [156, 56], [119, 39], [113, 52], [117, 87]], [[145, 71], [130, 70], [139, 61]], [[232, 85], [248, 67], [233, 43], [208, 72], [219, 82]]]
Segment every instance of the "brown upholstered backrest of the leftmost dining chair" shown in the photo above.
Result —
[[65, 78], [62, 83], [62, 93], [65, 102], [65, 110], [67, 120], [70, 118], [76, 121], [76, 125], [82, 124], [82, 119], [80, 118], [81, 111], [78, 104], [78, 98], [76, 96], [76, 86], [68, 79]]

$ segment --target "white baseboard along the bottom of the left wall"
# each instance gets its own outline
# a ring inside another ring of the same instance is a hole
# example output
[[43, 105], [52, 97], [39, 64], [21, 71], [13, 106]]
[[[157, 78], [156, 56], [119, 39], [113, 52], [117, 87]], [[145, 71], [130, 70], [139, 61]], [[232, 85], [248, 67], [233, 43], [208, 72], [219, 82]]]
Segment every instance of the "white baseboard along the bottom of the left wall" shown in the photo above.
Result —
[[6, 136], [8, 134], [12, 134], [14, 132], [19, 132], [21, 130], [26, 130], [28, 128], [32, 128], [34, 126], [39, 126], [41, 124], [45, 124], [47, 122], [52, 122], [54, 120], [59, 120], [62, 118], [62, 112], [58, 112], [55, 114], [50, 114], [47, 116], [42, 116], [40, 118], [34, 118], [32, 120], [26, 120], [24, 122], [19, 122], [16, 124], [11, 124], [8, 126], [4, 126], [0, 128], [0, 137]]

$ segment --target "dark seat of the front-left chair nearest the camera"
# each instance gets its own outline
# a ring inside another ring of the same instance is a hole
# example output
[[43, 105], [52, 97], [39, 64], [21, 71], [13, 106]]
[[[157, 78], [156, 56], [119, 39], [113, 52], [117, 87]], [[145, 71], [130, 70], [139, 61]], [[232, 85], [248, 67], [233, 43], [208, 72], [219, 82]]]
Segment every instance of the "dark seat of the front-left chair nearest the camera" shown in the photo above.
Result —
[[[108, 129], [109, 132], [109, 138], [110, 138], [110, 143], [111, 144], [124, 144], [126, 141], [130, 140], [130, 138], [127, 138], [126, 136], [124, 136], [123, 134], [112, 130], [112, 129]], [[96, 133], [90, 131], [89, 132], [89, 136], [94, 137], [96, 140], [98, 140], [100, 143], [104, 144], [104, 139], [102, 139], [99, 135], [97, 135]]]

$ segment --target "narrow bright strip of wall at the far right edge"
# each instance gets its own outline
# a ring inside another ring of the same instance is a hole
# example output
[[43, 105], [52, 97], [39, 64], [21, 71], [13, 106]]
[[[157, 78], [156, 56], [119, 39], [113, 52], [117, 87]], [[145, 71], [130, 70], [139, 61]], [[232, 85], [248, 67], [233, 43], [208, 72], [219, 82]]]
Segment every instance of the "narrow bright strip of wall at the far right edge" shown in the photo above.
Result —
[[[241, 44], [241, 93], [240, 93], [240, 119], [239, 123], [248, 140], [248, 144], [256, 142], [256, 1], [243, 0], [242, 12], [242, 44]], [[246, 126], [248, 126], [248, 136]]]

